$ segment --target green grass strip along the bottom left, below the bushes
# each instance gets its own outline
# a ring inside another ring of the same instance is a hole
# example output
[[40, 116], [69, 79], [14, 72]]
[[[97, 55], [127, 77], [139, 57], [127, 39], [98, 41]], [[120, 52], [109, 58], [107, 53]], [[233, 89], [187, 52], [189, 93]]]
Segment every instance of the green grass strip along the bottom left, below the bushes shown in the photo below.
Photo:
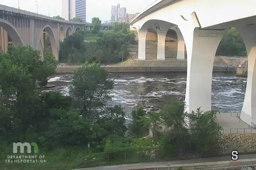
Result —
[[[108, 156], [104, 153], [92, 153], [88, 148], [79, 147], [57, 148], [49, 152], [39, 150], [38, 154], [34, 154], [33, 149], [31, 154], [27, 154], [26, 151], [26, 154], [13, 154], [12, 146], [7, 146], [3, 150], [0, 154], [0, 169], [4, 170], [70, 170], [107, 165], [165, 161], [163, 159], [150, 159], [145, 154], [141, 158], [141, 153], [129, 153], [126, 156], [124, 156], [124, 153], [120, 153]], [[44, 155], [46, 163], [6, 163], [7, 155], [37, 155], [37, 157]]]

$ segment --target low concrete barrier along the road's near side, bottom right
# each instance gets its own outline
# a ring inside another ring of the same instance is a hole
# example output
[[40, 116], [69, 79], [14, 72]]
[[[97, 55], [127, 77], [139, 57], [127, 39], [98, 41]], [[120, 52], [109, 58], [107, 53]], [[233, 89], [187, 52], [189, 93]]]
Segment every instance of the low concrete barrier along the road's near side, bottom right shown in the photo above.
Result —
[[255, 167], [256, 159], [243, 159], [236, 161], [222, 161], [222, 162], [208, 162], [208, 163], [196, 163], [196, 164], [177, 164], [177, 165], [155, 165], [155, 166], [143, 166], [132, 168], [119, 168], [119, 170], [220, 170], [220, 169], [236, 169], [239, 170], [242, 167]]

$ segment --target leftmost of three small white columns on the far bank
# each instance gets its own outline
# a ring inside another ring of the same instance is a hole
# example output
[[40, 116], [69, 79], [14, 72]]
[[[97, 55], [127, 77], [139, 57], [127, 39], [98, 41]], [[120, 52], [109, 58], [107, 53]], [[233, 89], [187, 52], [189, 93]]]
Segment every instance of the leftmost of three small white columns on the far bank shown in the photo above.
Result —
[[148, 30], [138, 29], [138, 39], [139, 39], [139, 49], [138, 49], [138, 59], [146, 60], [146, 34]]

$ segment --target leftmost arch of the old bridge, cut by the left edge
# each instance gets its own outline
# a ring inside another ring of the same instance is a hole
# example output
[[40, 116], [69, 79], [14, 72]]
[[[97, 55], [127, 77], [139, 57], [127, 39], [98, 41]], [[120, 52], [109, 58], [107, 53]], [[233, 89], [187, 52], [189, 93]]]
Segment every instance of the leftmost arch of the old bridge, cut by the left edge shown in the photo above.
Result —
[[25, 45], [21, 35], [10, 22], [0, 18], [0, 27], [4, 28], [4, 30], [9, 34], [12, 41], [14, 42], [14, 45]]

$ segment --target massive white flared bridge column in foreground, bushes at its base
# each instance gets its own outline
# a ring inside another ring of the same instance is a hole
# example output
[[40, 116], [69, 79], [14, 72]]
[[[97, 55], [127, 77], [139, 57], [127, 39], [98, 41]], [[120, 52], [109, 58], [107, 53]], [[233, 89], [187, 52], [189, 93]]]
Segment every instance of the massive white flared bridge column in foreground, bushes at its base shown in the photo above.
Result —
[[212, 72], [215, 53], [225, 30], [181, 28], [187, 47], [187, 112], [211, 110]]

